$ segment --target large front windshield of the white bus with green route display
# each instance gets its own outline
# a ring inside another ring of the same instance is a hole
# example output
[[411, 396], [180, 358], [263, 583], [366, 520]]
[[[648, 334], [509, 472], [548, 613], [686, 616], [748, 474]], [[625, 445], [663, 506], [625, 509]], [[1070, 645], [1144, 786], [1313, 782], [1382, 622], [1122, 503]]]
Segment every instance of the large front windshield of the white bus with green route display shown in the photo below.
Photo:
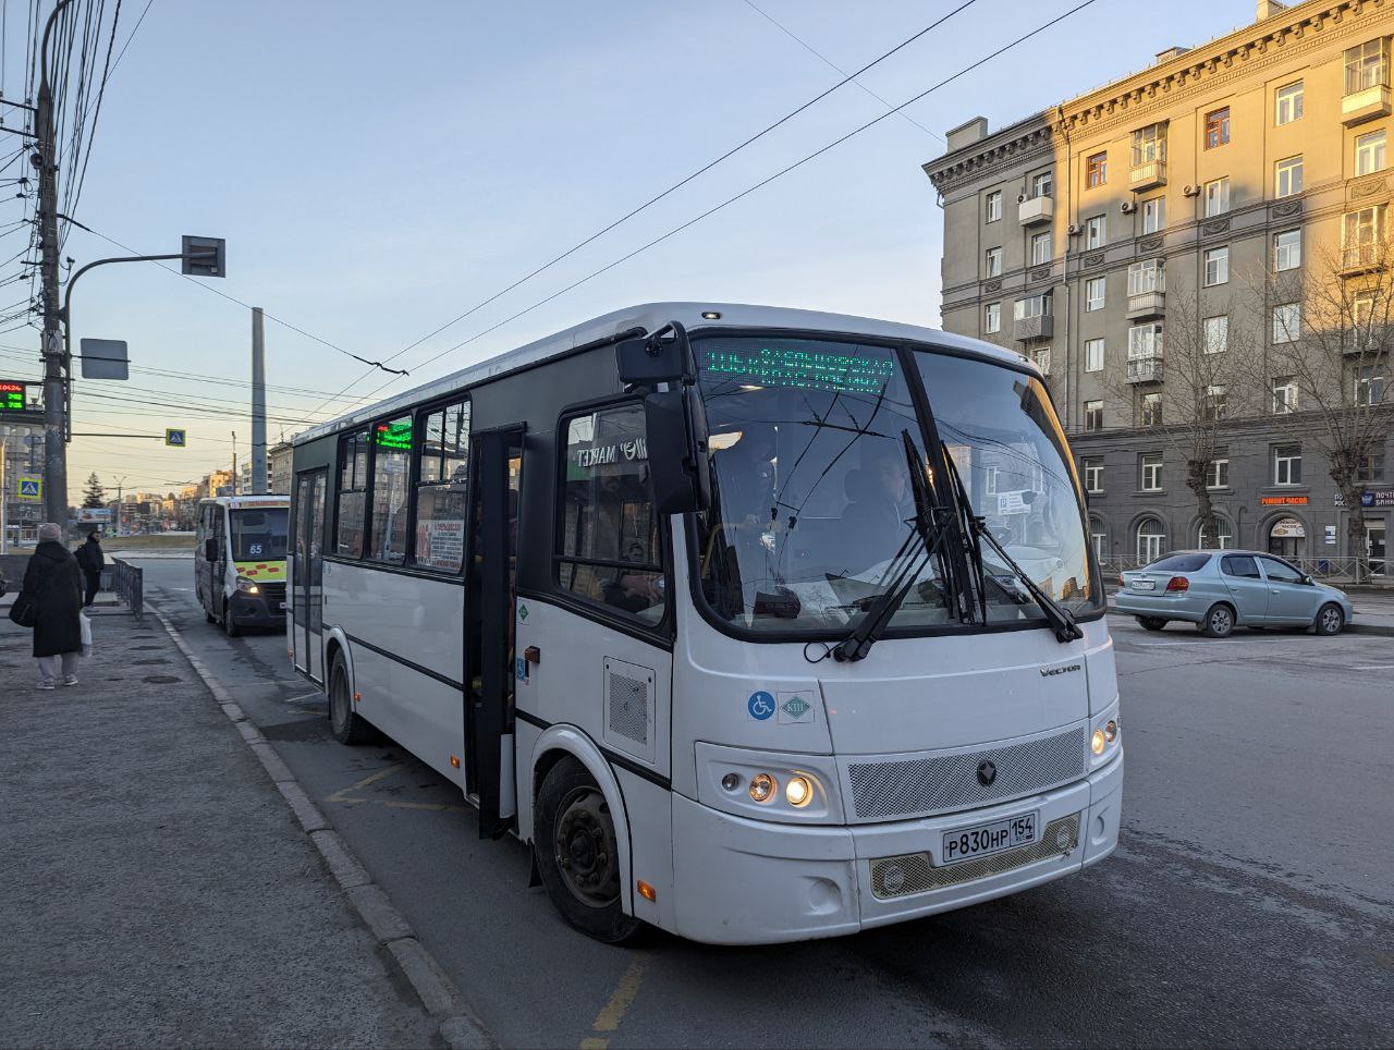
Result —
[[892, 630], [970, 629], [965, 618], [981, 622], [984, 605], [994, 623], [1043, 619], [987, 544], [981, 577], [970, 570], [962, 584], [951, 563], [962, 547], [916, 556], [912, 470], [934, 482], [916, 381], [967, 502], [1012, 561], [1076, 615], [1094, 601], [1078, 485], [1037, 381], [980, 360], [813, 337], [707, 336], [694, 350], [714, 485], [696, 556], [719, 618], [760, 633], [849, 630], [910, 558], [917, 576]]

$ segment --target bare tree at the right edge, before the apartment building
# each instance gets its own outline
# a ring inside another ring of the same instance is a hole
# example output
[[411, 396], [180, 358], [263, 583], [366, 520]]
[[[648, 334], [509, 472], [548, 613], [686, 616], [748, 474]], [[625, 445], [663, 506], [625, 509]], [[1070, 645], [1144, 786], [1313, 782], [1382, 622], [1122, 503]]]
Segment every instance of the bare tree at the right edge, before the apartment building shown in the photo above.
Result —
[[[1368, 213], [1366, 213], [1368, 212]], [[1295, 434], [1309, 436], [1345, 501], [1347, 542], [1355, 579], [1363, 576], [1365, 482], [1394, 424], [1386, 402], [1394, 349], [1394, 243], [1383, 236], [1383, 206], [1344, 218], [1341, 243], [1316, 248], [1305, 266], [1274, 261], [1250, 282], [1256, 329], [1269, 339], [1262, 364], [1273, 411], [1291, 413]]]

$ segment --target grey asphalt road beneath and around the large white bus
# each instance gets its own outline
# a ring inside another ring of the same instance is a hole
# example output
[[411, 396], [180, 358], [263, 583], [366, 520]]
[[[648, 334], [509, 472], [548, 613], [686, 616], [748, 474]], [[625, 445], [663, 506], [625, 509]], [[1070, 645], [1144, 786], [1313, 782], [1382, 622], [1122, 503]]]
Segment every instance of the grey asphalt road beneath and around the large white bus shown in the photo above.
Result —
[[[1018, 897], [832, 941], [599, 945], [389, 740], [343, 747], [284, 636], [227, 639], [191, 561], [166, 611], [503, 1046], [1291, 1046], [1394, 1030], [1394, 641], [1114, 622], [1118, 853]], [[326, 892], [330, 892], [326, 883]], [[585, 1040], [594, 1040], [587, 1043]]]

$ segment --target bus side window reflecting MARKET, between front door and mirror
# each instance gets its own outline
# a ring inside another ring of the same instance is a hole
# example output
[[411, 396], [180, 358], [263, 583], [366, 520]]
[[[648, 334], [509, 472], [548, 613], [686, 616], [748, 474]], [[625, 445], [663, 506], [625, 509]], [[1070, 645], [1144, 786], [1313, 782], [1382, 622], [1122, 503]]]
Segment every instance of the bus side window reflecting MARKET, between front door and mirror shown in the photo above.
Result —
[[612, 611], [664, 618], [659, 517], [648, 480], [644, 409], [620, 404], [563, 420], [556, 583]]

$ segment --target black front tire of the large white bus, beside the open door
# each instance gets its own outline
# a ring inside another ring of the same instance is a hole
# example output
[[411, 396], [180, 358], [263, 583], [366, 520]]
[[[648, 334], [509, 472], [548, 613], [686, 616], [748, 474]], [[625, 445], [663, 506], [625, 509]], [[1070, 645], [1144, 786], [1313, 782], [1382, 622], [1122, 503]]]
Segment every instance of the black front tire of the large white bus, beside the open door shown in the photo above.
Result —
[[577, 930], [620, 944], [643, 929], [620, 904], [619, 846], [609, 803], [576, 759], [562, 759], [542, 779], [533, 855], [546, 895]]

